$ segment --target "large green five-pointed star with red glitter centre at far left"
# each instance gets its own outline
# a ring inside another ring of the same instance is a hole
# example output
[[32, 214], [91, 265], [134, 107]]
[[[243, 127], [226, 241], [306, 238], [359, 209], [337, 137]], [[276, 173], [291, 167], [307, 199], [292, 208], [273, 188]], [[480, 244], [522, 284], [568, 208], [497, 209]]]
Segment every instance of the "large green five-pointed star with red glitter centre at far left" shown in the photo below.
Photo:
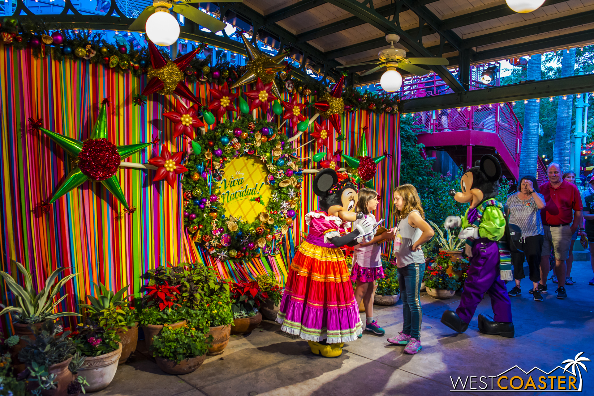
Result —
[[56, 142], [61, 148], [75, 157], [76, 167], [70, 171], [66, 180], [59, 187], [53, 197], [44, 205], [48, 206], [56, 202], [59, 197], [68, 193], [83, 184], [85, 181], [99, 181], [110, 193], [115, 196], [127, 210], [133, 210], [126, 201], [124, 191], [119, 185], [115, 176], [122, 159], [130, 157], [151, 145], [149, 143], [137, 143], [133, 145], [116, 146], [107, 139], [107, 99], [103, 99], [99, 110], [99, 117], [91, 132], [91, 137], [81, 141], [68, 136], [60, 135], [42, 127], [36, 126], [50, 139]]

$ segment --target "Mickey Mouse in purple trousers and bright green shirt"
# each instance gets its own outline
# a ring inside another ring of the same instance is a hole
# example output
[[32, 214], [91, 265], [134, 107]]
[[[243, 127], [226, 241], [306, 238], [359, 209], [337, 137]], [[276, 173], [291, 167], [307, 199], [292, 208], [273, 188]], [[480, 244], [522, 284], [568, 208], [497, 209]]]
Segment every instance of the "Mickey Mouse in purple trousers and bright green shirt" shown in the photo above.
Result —
[[[485, 334], [514, 336], [511, 304], [503, 280], [513, 280], [509, 251], [498, 244], [505, 234], [503, 206], [494, 199], [499, 192], [501, 165], [492, 155], [476, 161], [460, 179], [460, 192], [453, 194], [460, 203], [470, 203], [464, 218], [448, 216], [445, 228], [462, 227], [458, 238], [466, 238], [466, 254], [470, 257], [468, 276], [456, 312], [446, 310], [441, 322], [459, 333], [466, 331], [484, 293], [489, 293], [495, 320], [488, 315], [478, 317], [479, 330]], [[503, 280], [502, 280], [503, 279]]]

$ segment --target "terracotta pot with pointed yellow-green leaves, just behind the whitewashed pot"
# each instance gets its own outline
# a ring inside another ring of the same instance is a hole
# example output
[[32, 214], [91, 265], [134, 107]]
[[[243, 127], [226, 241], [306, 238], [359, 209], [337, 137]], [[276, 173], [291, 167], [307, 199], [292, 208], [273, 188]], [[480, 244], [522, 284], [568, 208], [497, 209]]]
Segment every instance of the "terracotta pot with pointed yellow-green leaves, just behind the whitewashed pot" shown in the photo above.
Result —
[[124, 296], [128, 286], [113, 293], [103, 283], [93, 282], [97, 297], [87, 295], [91, 304], [79, 304], [89, 310], [90, 318], [103, 328], [113, 329], [122, 343], [122, 355], [119, 364], [128, 360], [136, 350], [138, 343], [138, 318], [133, 306], [129, 306], [128, 296]]

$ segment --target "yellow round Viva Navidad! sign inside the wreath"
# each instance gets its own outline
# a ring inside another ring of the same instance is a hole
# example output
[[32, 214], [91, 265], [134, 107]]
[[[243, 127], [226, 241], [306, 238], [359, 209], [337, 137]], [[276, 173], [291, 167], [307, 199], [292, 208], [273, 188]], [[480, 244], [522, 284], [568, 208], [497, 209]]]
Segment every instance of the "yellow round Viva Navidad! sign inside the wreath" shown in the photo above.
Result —
[[[228, 215], [253, 222], [266, 208], [270, 199], [267, 172], [260, 161], [235, 158], [225, 168], [225, 177], [219, 181], [219, 200]], [[257, 202], [258, 197], [260, 202]]]

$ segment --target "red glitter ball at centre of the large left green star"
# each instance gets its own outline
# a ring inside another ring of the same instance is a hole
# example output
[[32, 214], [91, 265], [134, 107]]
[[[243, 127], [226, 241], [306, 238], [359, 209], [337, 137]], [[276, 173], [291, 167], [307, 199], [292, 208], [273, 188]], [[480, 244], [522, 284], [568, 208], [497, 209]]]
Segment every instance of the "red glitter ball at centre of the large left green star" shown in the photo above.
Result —
[[96, 181], [115, 175], [120, 161], [118, 148], [108, 139], [87, 139], [78, 153], [78, 167]]

